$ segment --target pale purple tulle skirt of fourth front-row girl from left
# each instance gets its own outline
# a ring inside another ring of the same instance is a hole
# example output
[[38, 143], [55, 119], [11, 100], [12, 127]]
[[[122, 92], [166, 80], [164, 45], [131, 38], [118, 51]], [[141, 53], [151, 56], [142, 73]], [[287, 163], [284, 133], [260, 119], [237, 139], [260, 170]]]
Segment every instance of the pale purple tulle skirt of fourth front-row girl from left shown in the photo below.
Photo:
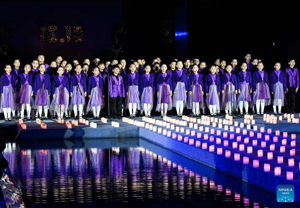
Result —
[[65, 112], [69, 106], [69, 92], [65, 87], [56, 87], [55, 96], [52, 99], [50, 110], [55, 110], [56, 112]]

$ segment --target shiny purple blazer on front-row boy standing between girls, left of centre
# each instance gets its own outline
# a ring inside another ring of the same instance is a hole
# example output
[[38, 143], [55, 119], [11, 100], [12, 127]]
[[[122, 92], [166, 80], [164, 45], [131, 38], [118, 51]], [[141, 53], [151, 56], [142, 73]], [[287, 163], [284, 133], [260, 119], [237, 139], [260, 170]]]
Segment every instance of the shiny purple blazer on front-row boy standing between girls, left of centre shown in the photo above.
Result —
[[119, 81], [115, 75], [110, 75], [108, 79], [108, 88], [110, 92], [110, 97], [125, 97], [125, 88], [123, 84], [122, 76], [118, 75]]

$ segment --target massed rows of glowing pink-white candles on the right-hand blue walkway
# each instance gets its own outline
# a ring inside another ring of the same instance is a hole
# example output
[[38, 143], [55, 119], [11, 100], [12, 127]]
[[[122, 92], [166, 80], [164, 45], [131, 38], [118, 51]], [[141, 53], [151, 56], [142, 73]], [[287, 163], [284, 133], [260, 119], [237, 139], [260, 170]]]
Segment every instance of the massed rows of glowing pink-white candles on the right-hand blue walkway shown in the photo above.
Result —
[[[249, 115], [245, 115], [245, 117], [248, 117]], [[267, 117], [268, 115], [266, 115], [266, 117]], [[205, 119], [205, 117], [204, 116], [202, 116], [203, 118], [202, 119]], [[188, 118], [188, 117], [186, 117], [186, 116], [183, 116], [182, 117], [184, 120], [190, 120], [191, 121], [191, 123], [189, 124], [189, 126], [190, 126], [190, 128], [195, 128], [195, 129], [198, 129], [198, 126], [197, 126], [197, 124], [193, 124], [192, 122], [198, 122], [198, 123], [200, 123], [201, 122], [201, 120], [200, 119], [197, 119], [197, 120], [195, 120], [195, 118]], [[209, 117], [208, 117], [209, 118]], [[250, 118], [250, 116], [249, 116], [249, 118]], [[218, 121], [218, 120], [216, 120], [217, 118], [214, 118], [214, 121]], [[130, 120], [130, 119], [129, 119]], [[162, 122], [162, 121], [157, 121], [157, 120], [155, 120], [155, 119], [152, 119], [151, 120], [151, 118], [143, 118], [143, 120], [144, 121], [148, 121], [148, 122], [151, 122], [151, 123], [153, 123], [153, 124], [158, 124], [158, 125], [161, 125], [161, 126], [165, 126], [166, 128], [170, 128], [171, 130], [173, 130], [173, 129], [176, 129], [176, 131], [177, 132], [181, 132], [181, 133], [183, 133], [184, 132], [184, 127], [178, 127], [178, 126], [176, 126], [175, 127], [175, 125], [173, 125], [173, 124], [169, 124], [169, 123], [167, 123], [167, 122]], [[165, 116], [164, 118], [163, 118], [163, 120], [164, 121], [169, 121], [169, 122], [174, 122], [174, 120], [175, 120], [175, 122], [176, 122], [176, 120], [177, 119], [172, 119], [172, 118], [170, 118], [170, 117], [167, 117], [167, 116]], [[251, 119], [250, 119], [251, 120]], [[123, 119], [123, 121], [126, 121], [126, 118], [124, 118]], [[244, 120], [245, 121], [245, 120]], [[131, 123], [131, 121], [127, 121], [128, 123]], [[133, 121], [134, 122], [134, 121]], [[220, 123], [222, 122], [223, 123], [223, 121], [219, 121]], [[179, 123], [179, 122], [178, 122]], [[213, 122], [212, 123], [212, 125], [214, 126], [214, 123], [216, 123], [216, 122]], [[219, 123], [219, 124], [220, 124]], [[246, 122], [245, 122], [246, 123]], [[248, 120], [247, 120], [247, 123], [248, 123]], [[242, 123], [241, 123], [242, 124]], [[182, 125], [186, 125], [185, 123], [182, 123]], [[235, 126], [238, 126], [238, 123], [235, 123]], [[168, 137], [169, 136], [171, 136], [172, 135], [172, 138], [173, 139], [178, 139], [179, 141], [182, 141], [182, 135], [178, 135], [178, 137], [177, 137], [177, 135], [176, 135], [176, 133], [172, 133], [171, 131], [168, 131], [167, 129], [162, 129], [162, 128], [160, 128], [160, 127], [156, 127], [156, 126], [153, 126], [152, 124], [148, 124], [148, 123], [146, 123], [145, 124], [145, 127], [146, 128], [148, 128], [149, 130], [153, 130], [153, 131], [158, 131], [158, 133], [162, 133], [163, 135], [167, 135]], [[247, 127], [248, 127], [248, 125], [247, 125]], [[256, 128], [255, 128], [256, 127]], [[237, 128], [238, 129], [238, 128]], [[247, 128], [247, 129], [250, 129], [250, 128]], [[200, 126], [199, 127], [199, 130], [200, 131], [203, 131], [203, 126]], [[224, 130], [228, 130], [228, 126], [225, 126], [224, 127]], [[231, 131], [234, 131], [234, 127], [233, 126], [231, 126], [230, 127], [230, 130]], [[244, 134], [247, 134], [247, 130], [246, 131], [244, 131], [244, 130], [246, 130], [246, 129], [243, 129], [243, 133]], [[254, 131], [257, 131], [257, 126], [254, 126], [253, 127], [253, 130]], [[272, 130], [271, 129], [268, 129], [267, 130], [268, 131], [268, 134], [271, 134], [272, 133]], [[205, 132], [209, 132], [209, 127], [205, 127]], [[260, 128], [260, 132], [264, 132], [264, 127], [261, 127]], [[191, 136], [195, 136], [196, 135], [196, 131], [194, 131], [194, 130], [192, 130], [192, 131], [190, 131], [190, 129], [186, 129], [185, 130], [185, 133], [187, 134], [187, 135], [189, 135], [189, 134], [191, 134]], [[211, 133], [214, 133], [214, 129], [211, 129]], [[220, 133], [221, 133], [221, 131], [220, 130], [217, 130], [217, 134], [218, 135], [220, 135]], [[238, 133], [239, 133], [239, 129], [238, 129]], [[254, 132], [253, 131], [250, 131], [249, 132], [249, 135], [250, 135], [250, 137], [253, 137], [254, 136]], [[274, 136], [273, 137], [273, 142], [277, 142], [278, 141], [278, 137], [277, 136], [279, 136], [280, 135], [280, 131], [279, 130], [276, 130], [275, 131], [275, 135], [276, 136]], [[201, 132], [197, 132], [197, 138], [199, 138], [199, 137], [201, 137]], [[227, 132], [223, 132], [223, 137], [227, 137]], [[230, 134], [230, 139], [234, 139], [234, 137], [235, 137], [235, 135], [234, 134]], [[287, 137], [287, 132], [283, 132], [283, 138], [286, 138]], [[262, 138], [262, 134], [261, 133], [257, 133], [257, 138]], [[295, 134], [292, 134], [292, 139], [295, 139], [296, 137], [295, 137]], [[205, 134], [204, 135], [204, 139], [208, 139], [208, 134]], [[265, 135], [265, 140], [269, 140], [269, 135]], [[214, 137], [213, 136], [210, 136], [210, 142], [213, 142], [214, 141]], [[241, 136], [237, 136], [237, 141], [241, 141]], [[192, 138], [188, 138], [188, 136], [186, 136], [186, 137], [184, 137], [184, 142], [185, 143], [189, 143], [190, 145], [194, 145], [194, 139], [192, 139]], [[217, 138], [216, 139], [216, 143], [217, 144], [220, 144], [220, 142], [221, 142], [221, 139], [220, 138]], [[244, 143], [248, 143], [249, 142], [249, 138], [245, 138], [244, 139]], [[282, 145], [286, 145], [286, 139], [283, 139], [282, 141]], [[232, 143], [232, 148], [237, 148], [237, 142], [233, 142]], [[255, 145], [257, 145], [257, 140], [253, 140], [253, 146], [255, 146]], [[224, 140], [224, 146], [228, 146], [228, 140]], [[266, 147], [266, 142], [265, 141], [262, 141], [261, 142], [261, 146], [262, 147]], [[292, 141], [291, 142], [291, 146], [295, 146], [295, 141]], [[199, 140], [197, 140], [196, 141], [196, 147], [201, 147], [201, 142], [199, 141]], [[202, 148], [203, 149], [207, 149], [207, 143], [202, 143]], [[244, 145], [243, 144], [240, 144], [239, 145], [239, 150], [240, 151], [244, 151]], [[274, 144], [271, 144], [270, 145], [270, 151], [272, 151], [272, 150], [275, 150], [275, 145]], [[209, 146], [209, 151], [214, 151], [214, 145], [210, 145]], [[281, 146], [280, 147], [280, 152], [285, 152], [285, 146]], [[247, 153], [252, 153], [252, 147], [247, 147]], [[222, 150], [222, 148], [217, 148], [217, 154], [223, 154], [223, 150]], [[258, 157], [263, 157], [263, 150], [258, 150], [258, 152], [257, 152], [257, 154], [258, 154]], [[238, 161], [238, 160], [240, 160], [239, 159], [239, 156], [240, 156], [240, 154], [239, 153], [235, 153], [234, 154], [235, 155], [235, 160], [236, 161]], [[292, 150], [290, 150], [290, 155], [291, 156], [294, 156], [295, 155], [295, 149], [292, 149]], [[230, 157], [230, 150], [226, 150], [225, 151], [225, 157]], [[272, 152], [268, 152], [267, 153], [267, 158], [268, 158], [268, 160], [271, 160], [271, 159], [273, 159], [273, 153]], [[248, 160], [248, 161], [247, 161]], [[253, 167], [259, 167], [259, 165], [257, 165], [257, 161], [258, 160], [253, 160]], [[259, 161], [258, 161], [259, 162]], [[280, 164], [280, 163], [283, 163], [283, 156], [278, 156], [277, 157], [277, 162]], [[248, 157], [243, 157], [243, 163], [244, 164], [249, 164], [249, 158]], [[289, 164], [289, 167], [293, 167], [294, 166], [294, 158], [289, 158], [288, 159], [288, 164]], [[265, 164], [264, 165], [264, 171], [266, 171], [266, 172], [268, 172], [268, 171], [270, 171], [269, 170], [270, 169], [270, 165], [269, 164]], [[300, 163], [299, 163], [299, 169], [300, 169]], [[280, 167], [275, 167], [274, 168], [274, 171], [276, 170], [276, 173], [275, 173], [275, 175], [281, 175], [281, 168]], [[279, 173], [280, 172], [280, 173]], [[287, 171], [287, 179], [288, 180], [292, 180], [293, 179], [293, 172], [289, 172], [289, 171]]]

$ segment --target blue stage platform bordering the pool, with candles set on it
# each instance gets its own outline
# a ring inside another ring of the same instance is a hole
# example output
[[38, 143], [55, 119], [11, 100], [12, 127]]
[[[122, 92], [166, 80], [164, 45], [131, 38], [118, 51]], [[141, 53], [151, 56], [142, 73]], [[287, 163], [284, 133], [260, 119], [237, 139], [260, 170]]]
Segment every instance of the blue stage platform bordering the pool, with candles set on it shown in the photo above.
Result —
[[[213, 122], [215, 118], [217, 118], [216, 123]], [[211, 121], [208, 124], [209, 119]], [[218, 123], [219, 119], [222, 119], [221, 126]], [[287, 119], [282, 115], [282, 121], [277, 119], [277, 124], [270, 124], [263, 121], [263, 116], [254, 115], [255, 124], [244, 124], [244, 117], [241, 116], [234, 116], [232, 121], [225, 119], [225, 116], [219, 116], [197, 118], [193, 122], [186, 121], [189, 120], [187, 117], [174, 116], [164, 119], [140, 117], [112, 120], [113, 123], [118, 122], [119, 127], [113, 127], [110, 120], [107, 120], [107, 123], [89, 120], [89, 123], [96, 122], [97, 128], [78, 124], [78, 126], [71, 125], [71, 129], [68, 129], [66, 124], [58, 124], [55, 121], [42, 121], [47, 125], [46, 129], [41, 129], [41, 125], [36, 124], [35, 121], [24, 121], [26, 130], [21, 128], [18, 121], [1, 122], [0, 125], [7, 140], [17, 139], [21, 144], [26, 140], [92, 138], [128, 138], [129, 142], [132, 137], [140, 137], [193, 161], [263, 188], [272, 194], [276, 194], [277, 185], [294, 185], [294, 200], [295, 203], [300, 204], [300, 194], [298, 194], [300, 191], [298, 137], [300, 125], [287, 122]], [[299, 119], [298, 114], [295, 115], [295, 119]], [[72, 119], [68, 121], [71, 123]], [[133, 124], [129, 124], [131, 122]], [[180, 123], [176, 124], [176, 122]], [[230, 122], [232, 124], [229, 124]], [[228, 142], [228, 146], [224, 146], [224, 140]], [[248, 147], [252, 149], [252, 153]], [[271, 150], [272, 148], [274, 150]], [[228, 154], [229, 151], [230, 156], [226, 157], [225, 152]], [[258, 155], [258, 152], [263, 152], [262, 157]], [[269, 152], [272, 153], [273, 159], [268, 158]], [[282, 164], [277, 162], [278, 156], [283, 157]], [[248, 159], [249, 164], [244, 164], [244, 159], [245, 161]], [[289, 166], [289, 159], [294, 160], [294, 166]], [[253, 167], [253, 160], [259, 161], [258, 167]], [[270, 167], [270, 171], [264, 171], [264, 166]], [[281, 169], [281, 174], [278, 176], [274, 175], [275, 167]], [[293, 173], [292, 179], [287, 179], [287, 171]]]

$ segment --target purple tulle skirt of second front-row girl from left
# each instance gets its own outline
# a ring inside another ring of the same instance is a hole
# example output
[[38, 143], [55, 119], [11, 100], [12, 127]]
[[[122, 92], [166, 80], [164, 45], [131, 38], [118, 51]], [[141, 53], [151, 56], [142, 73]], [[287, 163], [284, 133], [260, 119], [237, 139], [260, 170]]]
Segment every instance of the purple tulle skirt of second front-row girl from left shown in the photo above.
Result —
[[[32, 86], [29, 84], [22, 84], [20, 92], [16, 95], [16, 109], [20, 111], [22, 104], [30, 104], [30, 107], [34, 107], [33, 97], [31, 96]], [[25, 106], [26, 109], [26, 106]]]

